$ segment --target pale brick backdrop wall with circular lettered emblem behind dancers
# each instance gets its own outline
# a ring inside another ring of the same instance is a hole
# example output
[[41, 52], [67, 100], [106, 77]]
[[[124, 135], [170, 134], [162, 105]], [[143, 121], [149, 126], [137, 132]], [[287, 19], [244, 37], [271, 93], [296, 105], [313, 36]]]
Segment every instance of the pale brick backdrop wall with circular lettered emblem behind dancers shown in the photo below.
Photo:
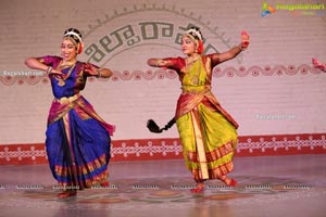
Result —
[[214, 71], [213, 92], [239, 123], [239, 136], [324, 133], [326, 74], [313, 69], [311, 59], [326, 62], [326, 10], [276, 10], [262, 17], [263, 5], [259, 0], [1, 0], [0, 144], [43, 142], [51, 87], [24, 60], [60, 55], [68, 27], [84, 34], [80, 61], [114, 71], [111, 79], [90, 79], [84, 91], [100, 116], [116, 125], [113, 140], [178, 137], [176, 127], [162, 135], [146, 128], [149, 118], [164, 125], [173, 117], [180, 92], [173, 72], [146, 61], [183, 55], [177, 39], [188, 25], [201, 27], [208, 53], [227, 51], [243, 29], [251, 36], [246, 52]]

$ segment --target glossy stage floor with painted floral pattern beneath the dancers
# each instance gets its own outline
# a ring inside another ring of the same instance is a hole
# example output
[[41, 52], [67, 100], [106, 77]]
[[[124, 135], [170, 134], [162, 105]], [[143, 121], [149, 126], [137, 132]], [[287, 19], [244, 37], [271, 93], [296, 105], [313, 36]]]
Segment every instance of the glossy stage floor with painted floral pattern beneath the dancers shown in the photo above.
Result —
[[326, 155], [236, 157], [239, 186], [193, 194], [183, 161], [112, 162], [110, 188], [57, 199], [48, 165], [0, 166], [0, 216], [326, 216]]

